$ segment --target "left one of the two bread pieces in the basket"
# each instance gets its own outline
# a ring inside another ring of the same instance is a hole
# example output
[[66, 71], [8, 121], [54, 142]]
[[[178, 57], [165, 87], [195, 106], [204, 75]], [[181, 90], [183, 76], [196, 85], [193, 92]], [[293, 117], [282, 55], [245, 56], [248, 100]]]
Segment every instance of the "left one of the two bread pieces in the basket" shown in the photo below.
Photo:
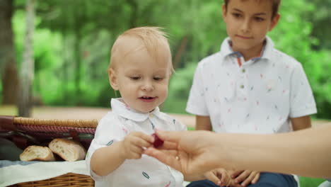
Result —
[[20, 154], [21, 161], [55, 161], [54, 154], [48, 147], [30, 145]]

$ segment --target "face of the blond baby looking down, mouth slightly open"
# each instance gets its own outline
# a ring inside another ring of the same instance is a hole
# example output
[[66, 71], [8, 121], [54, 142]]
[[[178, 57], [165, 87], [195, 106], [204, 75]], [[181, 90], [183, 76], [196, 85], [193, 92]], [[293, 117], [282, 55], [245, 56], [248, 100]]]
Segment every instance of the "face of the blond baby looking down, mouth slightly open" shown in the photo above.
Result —
[[115, 89], [129, 107], [147, 113], [165, 101], [170, 78], [168, 60], [170, 57], [165, 56], [156, 60], [146, 49], [141, 49], [127, 55], [117, 65]]

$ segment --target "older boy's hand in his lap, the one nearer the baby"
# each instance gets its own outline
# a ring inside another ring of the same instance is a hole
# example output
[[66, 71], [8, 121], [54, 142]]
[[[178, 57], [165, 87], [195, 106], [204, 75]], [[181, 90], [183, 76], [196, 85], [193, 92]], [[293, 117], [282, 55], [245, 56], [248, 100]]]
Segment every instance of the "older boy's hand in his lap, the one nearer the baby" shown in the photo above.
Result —
[[231, 179], [231, 176], [230, 174], [228, 174], [228, 171], [223, 168], [208, 171], [204, 174], [204, 176], [209, 181], [216, 183], [216, 185], [218, 186], [240, 186], [236, 184], [233, 179]]

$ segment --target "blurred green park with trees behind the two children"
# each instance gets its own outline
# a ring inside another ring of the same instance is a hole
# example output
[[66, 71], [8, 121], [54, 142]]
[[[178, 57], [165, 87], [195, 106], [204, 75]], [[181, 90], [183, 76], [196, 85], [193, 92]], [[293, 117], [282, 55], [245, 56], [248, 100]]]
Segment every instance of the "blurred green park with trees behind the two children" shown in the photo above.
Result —
[[[32, 23], [27, 19], [28, 4], [34, 5]], [[64, 115], [71, 118], [88, 118], [88, 111], [81, 108], [108, 111], [110, 98], [116, 97], [107, 72], [112, 43], [124, 30], [137, 26], [159, 26], [169, 33], [175, 74], [161, 110], [188, 115], [185, 105], [197, 63], [218, 52], [226, 38], [222, 4], [221, 0], [0, 0], [0, 115], [21, 115], [20, 88], [26, 86], [26, 74], [32, 77], [28, 106], [34, 117], [47, 111], [50, 118], [57, 118], [55, 112], [65, 108], [71, 108], [72, 113]], [[279, 24], [268, 35], [277, 49], [303, 64], [318, 108], [313, 120], [331, 120], [331, 0], [285, 0], [279, 12]], [[33, 30], [30, 40], [27, 30]], [[28, 50], [33, 61], [28, 60]], [[32, 62], [27, 72], [24, 64]]]

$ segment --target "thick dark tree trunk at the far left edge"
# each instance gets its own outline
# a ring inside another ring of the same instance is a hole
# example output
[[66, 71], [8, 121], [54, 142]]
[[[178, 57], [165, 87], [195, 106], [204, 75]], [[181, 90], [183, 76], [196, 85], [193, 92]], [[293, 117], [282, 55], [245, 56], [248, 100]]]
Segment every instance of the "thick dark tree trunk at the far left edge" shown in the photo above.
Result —
[[13, 0], [0, 1], [0, 78], [2, 103], [15, 105], [18, 96], [18, 72], [13, 46]]

